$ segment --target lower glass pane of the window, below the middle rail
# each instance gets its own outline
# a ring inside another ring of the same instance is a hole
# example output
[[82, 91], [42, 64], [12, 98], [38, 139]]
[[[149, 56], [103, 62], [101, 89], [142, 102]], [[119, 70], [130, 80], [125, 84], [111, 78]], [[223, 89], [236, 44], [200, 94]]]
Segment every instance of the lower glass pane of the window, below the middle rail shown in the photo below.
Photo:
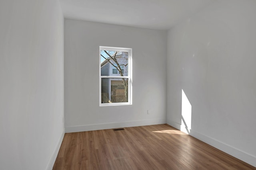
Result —
[[128, 78], [101, 78], [101, 103], [128, 102]]

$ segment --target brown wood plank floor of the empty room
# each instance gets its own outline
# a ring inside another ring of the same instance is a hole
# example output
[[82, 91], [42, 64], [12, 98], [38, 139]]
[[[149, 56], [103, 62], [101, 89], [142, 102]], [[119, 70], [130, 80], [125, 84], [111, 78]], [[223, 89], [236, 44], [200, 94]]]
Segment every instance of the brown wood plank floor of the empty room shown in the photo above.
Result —
[[256, 170], [169, 125], [66, 133], [53, 170]]

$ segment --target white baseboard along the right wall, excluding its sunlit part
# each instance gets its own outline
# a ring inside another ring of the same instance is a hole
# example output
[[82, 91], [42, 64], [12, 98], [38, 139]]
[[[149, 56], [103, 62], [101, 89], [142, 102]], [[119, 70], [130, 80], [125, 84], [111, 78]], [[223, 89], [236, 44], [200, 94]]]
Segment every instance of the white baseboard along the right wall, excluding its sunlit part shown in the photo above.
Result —
[[[181, 125], [173, 122], [173, 121], [167, 121], [167, 124], [176, 128], [181, 129]], [[196, 139], [199, 139], [200, 141], [203, 141], [204, 143], [207, 143], [208, 145], [211, 145], [219, 150], [222, 150], [223, 152], [226, 152], [227, 154], [230, 154], [231, 156], [234, 156], [235, 158], [238, 158], [252, 166], [256, 167], [256, 157], [248, 154], [246, 152], [243, 152], [242, 150], [236, 149], [228, 144], [222, 143], [216, 139], [213, 139], [211, 137], [208, 137], [206, 135], [203, 135], [201, 133], [198, 133], [196, 131], [193, 131], [192, 129], [189, 129], [192, 137], [195, 137]]]

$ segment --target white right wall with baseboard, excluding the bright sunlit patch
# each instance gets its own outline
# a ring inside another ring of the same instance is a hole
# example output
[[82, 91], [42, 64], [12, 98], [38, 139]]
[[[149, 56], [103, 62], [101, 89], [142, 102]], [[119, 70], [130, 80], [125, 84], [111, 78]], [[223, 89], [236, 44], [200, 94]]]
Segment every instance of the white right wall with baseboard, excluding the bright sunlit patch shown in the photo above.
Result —
[[256, 1], [216, 1], [168, 31], [167, 122], [256, 166]]

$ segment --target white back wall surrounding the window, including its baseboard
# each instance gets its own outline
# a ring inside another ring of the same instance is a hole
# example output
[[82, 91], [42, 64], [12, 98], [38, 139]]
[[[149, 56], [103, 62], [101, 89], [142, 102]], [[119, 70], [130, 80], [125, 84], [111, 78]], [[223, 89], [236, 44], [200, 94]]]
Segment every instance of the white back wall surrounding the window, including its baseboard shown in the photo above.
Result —
[[[64, 25], [66, 132], [166, 122], [167, 31], [78, 20]], [[99, 46], [132, 48], [132, 105], [99, 106]]]

